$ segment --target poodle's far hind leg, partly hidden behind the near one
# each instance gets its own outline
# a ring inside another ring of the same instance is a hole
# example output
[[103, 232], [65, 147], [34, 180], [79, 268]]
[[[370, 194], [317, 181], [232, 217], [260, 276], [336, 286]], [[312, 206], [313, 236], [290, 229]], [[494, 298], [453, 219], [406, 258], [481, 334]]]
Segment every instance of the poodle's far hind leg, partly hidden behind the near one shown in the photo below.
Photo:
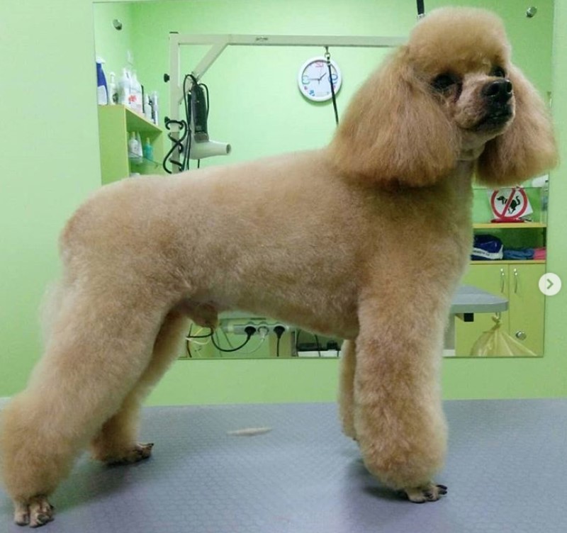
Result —
[[107, 464], [130, 464], [147, 459], [153, 443], [137, 442], [140, 406], [153, 386], [179, 356], [181, 342], [189, 320], [184, 313], [172, 310], [165, 318], [154, 344], [152, 359], [120, 410], [108, 419], [91, 442], [95, 459]]

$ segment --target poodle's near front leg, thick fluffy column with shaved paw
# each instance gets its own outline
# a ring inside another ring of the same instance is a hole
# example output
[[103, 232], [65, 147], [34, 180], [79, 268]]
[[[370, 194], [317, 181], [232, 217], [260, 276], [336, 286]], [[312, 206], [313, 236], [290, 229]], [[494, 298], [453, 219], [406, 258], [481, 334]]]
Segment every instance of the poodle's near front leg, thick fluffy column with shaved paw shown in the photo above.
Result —
[[429, 304], [388, 308], [367, 301], [354, 377], [354, 429], [364, 463], [416, 503], [447, 493], [432, 482], [447, 443], [439, 386], [446, 315], [443, 303]]

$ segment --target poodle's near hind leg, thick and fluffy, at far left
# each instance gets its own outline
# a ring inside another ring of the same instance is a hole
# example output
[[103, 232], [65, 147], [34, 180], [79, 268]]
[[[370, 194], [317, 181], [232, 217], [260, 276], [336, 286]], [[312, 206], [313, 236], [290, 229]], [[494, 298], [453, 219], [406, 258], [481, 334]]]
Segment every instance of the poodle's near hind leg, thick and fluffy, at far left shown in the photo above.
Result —
[[44, 357], [2, 413], [1, 474], [19, 524], [52, 520], [47, 497], [150, 363], [165, 311], [119, 289], [65, 294]]

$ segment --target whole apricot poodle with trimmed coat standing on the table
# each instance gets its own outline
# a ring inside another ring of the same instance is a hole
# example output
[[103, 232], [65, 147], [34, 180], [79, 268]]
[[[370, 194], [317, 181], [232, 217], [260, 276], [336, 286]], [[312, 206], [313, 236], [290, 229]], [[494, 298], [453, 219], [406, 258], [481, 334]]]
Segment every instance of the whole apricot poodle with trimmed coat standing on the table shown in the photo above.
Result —
[[235, 309], [347, 340], [344, 432], [387, 486], [437, 500], [439, 370], [473, 176], [517, 184], [555, 162], [546, 106], [500, 20], [447, 8], [361, 86], [322, 150], [97, 191], [62, 232], [45, 355], [4, 413], [16, 522], [52, 520], [47, 498], [89, 443], [108, 463], [150, 456], [140, 403], [187, 318], [215, 327]]

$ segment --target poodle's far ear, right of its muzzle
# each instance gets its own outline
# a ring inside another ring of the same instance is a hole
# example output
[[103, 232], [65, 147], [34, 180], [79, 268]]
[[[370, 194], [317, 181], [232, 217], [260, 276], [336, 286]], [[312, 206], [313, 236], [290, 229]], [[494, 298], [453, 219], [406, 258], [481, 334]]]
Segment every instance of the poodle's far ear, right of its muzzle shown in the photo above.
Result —
[[551, 118], [544, 101], [520, 69], [508, 72], [515, 94], [515, 117], [503, 135], [490, 140], [478, 160], [477, 178], [488, 186], [515, 185], [557, 164]]

